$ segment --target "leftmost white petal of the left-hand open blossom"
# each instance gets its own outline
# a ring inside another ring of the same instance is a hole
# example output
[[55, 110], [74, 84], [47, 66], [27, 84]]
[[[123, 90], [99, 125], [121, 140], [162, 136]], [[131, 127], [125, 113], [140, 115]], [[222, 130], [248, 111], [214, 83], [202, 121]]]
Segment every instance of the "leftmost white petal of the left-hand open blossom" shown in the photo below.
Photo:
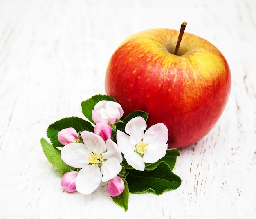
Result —
[[61, 150], [61, 159], [74, 168], [83, 168], [88, 165], [89, 150], [81, 143], [70, 143]]

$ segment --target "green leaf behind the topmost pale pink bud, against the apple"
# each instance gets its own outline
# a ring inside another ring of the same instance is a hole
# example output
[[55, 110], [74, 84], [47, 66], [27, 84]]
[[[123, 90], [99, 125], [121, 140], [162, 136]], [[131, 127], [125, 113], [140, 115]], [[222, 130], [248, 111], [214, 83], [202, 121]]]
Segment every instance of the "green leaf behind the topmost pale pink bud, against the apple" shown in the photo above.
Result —
[[[92, 120], [92, 110], [94, 109], [94, 106], [96, 103], [98, 103], [99, 101], [115, 101], [117, 102], [114, 98], [112, 98], [111, 96], [108, 95], [102, 95], [102, 94], [98, 94], [95, 96], [92, 96], [91, 98], [89, 98], [86, 101], [83, 101], [81, 103], [81, 107], [82, 107], [82, 113], [83, 115], [88, 118], [89, 121], [91, 121], [92, 123], [94, 123], [94, 121]], [[95, 124], [95, 123], [94, 123]]]

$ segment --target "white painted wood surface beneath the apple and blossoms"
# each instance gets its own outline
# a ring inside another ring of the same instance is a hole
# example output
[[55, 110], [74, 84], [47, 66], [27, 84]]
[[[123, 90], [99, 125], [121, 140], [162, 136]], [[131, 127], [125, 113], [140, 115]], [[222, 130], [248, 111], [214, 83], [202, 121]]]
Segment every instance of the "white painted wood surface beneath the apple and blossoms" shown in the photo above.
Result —
[[[104, 188], [63, 192], [40, 147], [48, 125], [104, 94], [125, 38], [183, 21], [225, 55], [232, 90], [213, 130], [180, 150], [180, 188], [131, 194], [128, 212]], [[0, 218], [256, 218], [255, 49], [255, 0], [0, 0]]]

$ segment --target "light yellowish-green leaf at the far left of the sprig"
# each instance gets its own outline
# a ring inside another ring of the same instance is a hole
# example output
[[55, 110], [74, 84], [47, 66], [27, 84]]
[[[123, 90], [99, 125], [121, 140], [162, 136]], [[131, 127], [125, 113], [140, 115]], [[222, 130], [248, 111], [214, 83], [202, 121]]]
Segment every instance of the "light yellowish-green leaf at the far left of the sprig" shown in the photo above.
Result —
[[41, 139], [41, 146], [48, 161], [61, 173], [65, 174], [70, 171], [70, 166], [61, 159], [61, 151], [53, 147], [45, 139]]

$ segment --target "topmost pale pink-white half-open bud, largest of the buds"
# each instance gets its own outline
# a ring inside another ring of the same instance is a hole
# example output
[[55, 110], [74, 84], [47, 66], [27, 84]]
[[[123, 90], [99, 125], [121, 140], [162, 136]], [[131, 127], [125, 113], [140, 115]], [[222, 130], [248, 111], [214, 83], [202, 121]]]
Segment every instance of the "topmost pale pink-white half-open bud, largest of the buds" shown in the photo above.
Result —
[[92, 119], [95, 123], [103, 122], [114, 124], [124, 114], [121, 105], [114, 101], [99, 101], [92, 110]]

